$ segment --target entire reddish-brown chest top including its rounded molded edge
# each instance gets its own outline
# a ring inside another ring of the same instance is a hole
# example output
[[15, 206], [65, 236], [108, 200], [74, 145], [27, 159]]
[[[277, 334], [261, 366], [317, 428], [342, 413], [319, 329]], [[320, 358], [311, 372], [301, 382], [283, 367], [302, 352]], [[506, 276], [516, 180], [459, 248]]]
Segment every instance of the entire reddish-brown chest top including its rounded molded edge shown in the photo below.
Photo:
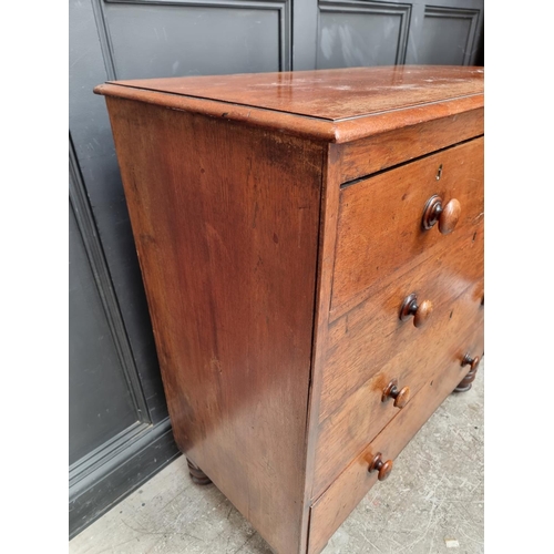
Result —
[[94, 91], [346, 142], [482, 107], [483, 73], [396, 65], [114, 81]]

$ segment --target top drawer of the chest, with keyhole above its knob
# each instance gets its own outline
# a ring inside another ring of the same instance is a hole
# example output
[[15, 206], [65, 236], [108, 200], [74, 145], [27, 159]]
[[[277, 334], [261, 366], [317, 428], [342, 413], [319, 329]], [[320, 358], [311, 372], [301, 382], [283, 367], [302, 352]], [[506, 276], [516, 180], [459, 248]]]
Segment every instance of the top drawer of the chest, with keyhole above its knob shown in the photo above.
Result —
[[[440, 223], [422, 226], [428, 201], [438, 195]], [[348, 185], [340, 192], [331, 319], [420, 264], [456, 238], [476, 229], [483, 217], [483, 138], [445, 148], [416, 162]]]

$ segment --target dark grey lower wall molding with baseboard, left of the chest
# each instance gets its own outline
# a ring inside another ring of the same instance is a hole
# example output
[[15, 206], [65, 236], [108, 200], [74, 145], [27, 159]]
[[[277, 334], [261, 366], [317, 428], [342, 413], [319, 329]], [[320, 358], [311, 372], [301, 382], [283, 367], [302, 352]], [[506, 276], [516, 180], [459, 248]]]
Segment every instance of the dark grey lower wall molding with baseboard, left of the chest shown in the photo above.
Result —
[[137, 418], [135, 423], [70, 466], [69, 522], [72, 537], [175, 459], [178, 450], [170, 418], [152, 424], [71, 135], [69, 176], [70, 208], [75, 216]]

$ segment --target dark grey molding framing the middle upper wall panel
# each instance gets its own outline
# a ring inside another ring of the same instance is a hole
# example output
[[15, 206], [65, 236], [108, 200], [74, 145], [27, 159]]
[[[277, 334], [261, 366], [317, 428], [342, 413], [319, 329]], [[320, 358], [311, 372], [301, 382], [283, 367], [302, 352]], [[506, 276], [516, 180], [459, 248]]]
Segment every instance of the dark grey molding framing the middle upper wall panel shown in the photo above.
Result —
[[408, 49], [411, 9], [412, 6], [408, 3], [367, 2], [361, 0], [319, 0], [317, 35], [319, 37], [321, 12], [397, 16], [400, 17], [400, 32], [398, 35], [394, 63], [397, 65], [403, 64]]

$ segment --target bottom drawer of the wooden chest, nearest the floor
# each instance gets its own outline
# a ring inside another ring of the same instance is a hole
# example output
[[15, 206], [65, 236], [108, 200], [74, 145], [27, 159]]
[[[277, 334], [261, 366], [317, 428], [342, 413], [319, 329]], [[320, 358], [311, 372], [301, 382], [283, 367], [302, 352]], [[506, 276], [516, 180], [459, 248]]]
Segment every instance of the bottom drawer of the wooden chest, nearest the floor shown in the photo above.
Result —
[[[317, 554], [335, 531], [376, 484], [378, 472], [369, 472], [369, 463], [377, 453], [382, 461], [394, 460], [423, 423], [453, 391], [470, 367], [461, 367], [460, 360], [468, 352], [481, 356], [483, 332], [473, 334], [464, 342], [466, 350], [452, 349], [437, 369], [434, 376], [410, 400], [398, 416], [363, 449], [346, 468], [310, 509], [308, 553]], [[393, 479], [393, 473], [391, 475]]]

